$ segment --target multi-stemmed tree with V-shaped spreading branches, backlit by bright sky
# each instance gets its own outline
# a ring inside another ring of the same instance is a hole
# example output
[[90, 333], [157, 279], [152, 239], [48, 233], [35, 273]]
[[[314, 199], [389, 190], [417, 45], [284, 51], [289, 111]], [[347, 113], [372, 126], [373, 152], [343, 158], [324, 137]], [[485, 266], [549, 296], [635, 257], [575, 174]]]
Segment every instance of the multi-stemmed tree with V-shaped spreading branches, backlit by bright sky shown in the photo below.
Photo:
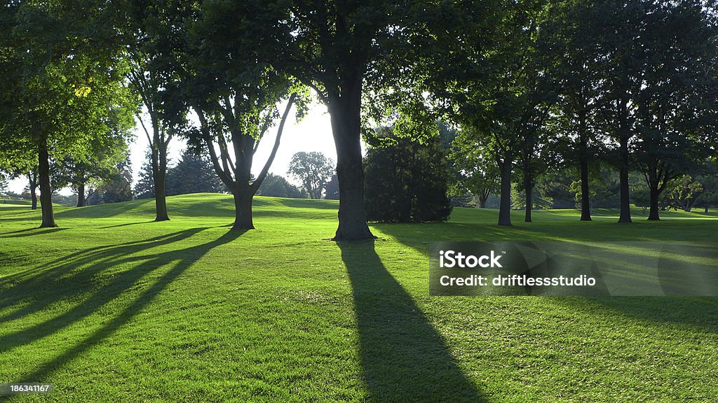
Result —
[[[168, 115], [192, 110], [200, 125], [172, 122], [192, 146], [204, 146], [220, 180], [235, 201], [233, 229], [253, 229], [252, 199], [279, 148], [284, 123], [293, 106], [304, 112], [303, 89], [286, 73], [266, 61], [273, 47], [276, 13], [265, 14], [254, 1], [178, 1], [162, 5], [161, 22], [154, 24], [163, 38], [159, 49], [165, 63]], [[278, 105], [285, 103], [284, 113]], [[167, 108], [167, 106], [166, 106]], [[251, 168], [258, 143], [279, 121], [274, 147], [256, 179]], [[184, 125], [185, 127], [180, 127]]]

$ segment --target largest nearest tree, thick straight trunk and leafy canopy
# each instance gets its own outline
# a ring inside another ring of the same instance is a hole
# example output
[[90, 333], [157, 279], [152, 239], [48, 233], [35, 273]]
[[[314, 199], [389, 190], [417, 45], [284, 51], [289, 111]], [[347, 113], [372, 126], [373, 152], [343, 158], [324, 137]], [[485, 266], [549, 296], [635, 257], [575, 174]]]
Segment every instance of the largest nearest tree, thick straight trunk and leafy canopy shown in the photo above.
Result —
[[[470, 4], [467, 4], [470, 3]], [[419, 70], [450, 38], [460, 19], [485, 22], [490, 1], [289, 1], [280, 20], [277, 66], [312, 87], [327, 105], [337, 149], [339, 226], [334, 239], [373, 238], [366, 223], [360, 137], [368, 133], [363, 96], [416, 88]], [[465, 7], [461, 9], [460, 7]], [[477, 23], [480, 24], [480, 23]], [[480, 34], [485, 32], [485, 27]], [[485, 37], [483, 38], [485, 39]], [[283, 45], [283, 46], [282, 46]], [[436, 63], [439, 65], [439, 62]], [[414, 91], [421, 94], [421, 90]], [[364, 123], [364, 125], [363, 125]]]

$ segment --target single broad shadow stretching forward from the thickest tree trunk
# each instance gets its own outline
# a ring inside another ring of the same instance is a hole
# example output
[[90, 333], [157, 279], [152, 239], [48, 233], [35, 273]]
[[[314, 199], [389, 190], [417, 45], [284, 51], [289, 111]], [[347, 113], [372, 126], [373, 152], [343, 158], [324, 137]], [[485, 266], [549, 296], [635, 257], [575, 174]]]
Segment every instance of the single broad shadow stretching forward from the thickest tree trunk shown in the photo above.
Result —
[[376, 402], [485, 402], [373, 241], [337, 242], [352, 283], [364, 379]]

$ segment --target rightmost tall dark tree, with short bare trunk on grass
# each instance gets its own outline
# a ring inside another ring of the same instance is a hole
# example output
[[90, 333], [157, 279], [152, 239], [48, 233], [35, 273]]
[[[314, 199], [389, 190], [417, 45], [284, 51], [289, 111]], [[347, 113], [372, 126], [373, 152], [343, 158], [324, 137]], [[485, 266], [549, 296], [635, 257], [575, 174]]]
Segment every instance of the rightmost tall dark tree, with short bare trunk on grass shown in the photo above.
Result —
[[[658, 220], [663, 191], [709, 156], [705, 145], [715, 135], [700, 122], [700, 89], [718, 83], [705, 74], [714, 68], [710, 38], [718, 31], [699, 1], [658, 4], [644, 18], [641, 42], [649, 56], [633, 99], [635, 156], [650, 190], [648, 219]], [[691, 29], [682, 29], [686, 26]]]

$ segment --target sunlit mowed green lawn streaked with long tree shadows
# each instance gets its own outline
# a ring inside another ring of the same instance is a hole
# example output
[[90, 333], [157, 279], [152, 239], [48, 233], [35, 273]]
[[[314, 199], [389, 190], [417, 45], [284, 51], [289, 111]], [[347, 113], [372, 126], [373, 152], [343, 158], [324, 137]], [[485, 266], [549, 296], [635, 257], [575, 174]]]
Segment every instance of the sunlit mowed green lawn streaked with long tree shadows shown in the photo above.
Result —
[[[0, 204], [0, 383], [11, 402], [714, 402], [718, 298], [429, 297], [438, 240], [718, 243], [717, 214], [615, 224], [495, 210], [373, 224], [331, 242], [335, 201], [230, 196], [58, 207]], [[640, 251], [638, 251], [640, 252]]]

